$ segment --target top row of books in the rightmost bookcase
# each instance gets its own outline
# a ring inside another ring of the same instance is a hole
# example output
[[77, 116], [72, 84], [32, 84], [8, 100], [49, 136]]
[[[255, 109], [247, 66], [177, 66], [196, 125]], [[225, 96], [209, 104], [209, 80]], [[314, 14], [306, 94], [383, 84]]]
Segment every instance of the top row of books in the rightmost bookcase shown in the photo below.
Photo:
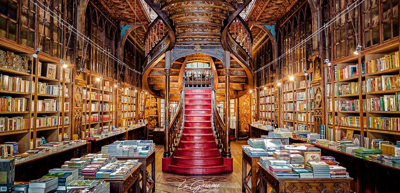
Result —
[[371, 74], [393, 68], [399, 68], [399, 52], [385, 55], [382, 58], [371, 60], [362, 64], [362, 74]]

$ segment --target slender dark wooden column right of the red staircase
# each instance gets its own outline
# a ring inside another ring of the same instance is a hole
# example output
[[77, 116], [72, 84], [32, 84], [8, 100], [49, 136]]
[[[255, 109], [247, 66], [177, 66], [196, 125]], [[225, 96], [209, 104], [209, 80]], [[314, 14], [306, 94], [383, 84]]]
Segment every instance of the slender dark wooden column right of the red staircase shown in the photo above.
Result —
[[224, 156], [231, 157], [230, 153], [230, 68], [225, 68], [225, 144], [224, 144]]

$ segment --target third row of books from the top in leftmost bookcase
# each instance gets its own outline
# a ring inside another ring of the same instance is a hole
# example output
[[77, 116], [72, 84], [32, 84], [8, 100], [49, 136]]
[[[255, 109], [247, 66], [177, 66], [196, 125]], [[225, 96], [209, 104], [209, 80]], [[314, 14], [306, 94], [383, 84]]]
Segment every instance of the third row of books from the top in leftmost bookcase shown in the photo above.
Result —
[[0, 97], [1, 112], [24, 112], [29, 111], [29, 98], [13, 98], [10, 96]]

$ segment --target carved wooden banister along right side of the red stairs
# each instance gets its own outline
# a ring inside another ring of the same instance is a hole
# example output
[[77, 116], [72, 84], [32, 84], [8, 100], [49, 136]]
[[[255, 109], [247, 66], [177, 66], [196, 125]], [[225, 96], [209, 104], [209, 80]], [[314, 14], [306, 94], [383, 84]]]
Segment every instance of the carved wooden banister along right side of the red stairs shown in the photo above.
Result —
[[[211, 85], [214, 82], [214, 76], [211, 76]], [[220, 149], [220, 152], [222, 156], [224, 157], [230, 157], [229, 152], [229, 141], [227, 141], [227, 135], [228, 133], [226, 132], [225, 129], [225, 123], [221, 118], [220, 113], [218, 112], [217, 108], [217, 102], [216, 102], [216, 94], [215, 90], [213, 87], [211, 87], [211, 125], [212, 125], [212, 130], [214, 132], [214, 137], [215, 141], [217, 143], [218, 149]]]

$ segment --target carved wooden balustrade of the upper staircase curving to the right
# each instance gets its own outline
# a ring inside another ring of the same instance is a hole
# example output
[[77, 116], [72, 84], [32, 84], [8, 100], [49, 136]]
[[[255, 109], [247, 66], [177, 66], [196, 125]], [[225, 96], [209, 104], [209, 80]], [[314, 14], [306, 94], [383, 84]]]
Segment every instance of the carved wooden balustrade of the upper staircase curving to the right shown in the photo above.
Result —
[[240, 16], [236, 16], [229, 26], [229, 34], [235, 42], [251, 56], [253, 37], [250, 28]]

